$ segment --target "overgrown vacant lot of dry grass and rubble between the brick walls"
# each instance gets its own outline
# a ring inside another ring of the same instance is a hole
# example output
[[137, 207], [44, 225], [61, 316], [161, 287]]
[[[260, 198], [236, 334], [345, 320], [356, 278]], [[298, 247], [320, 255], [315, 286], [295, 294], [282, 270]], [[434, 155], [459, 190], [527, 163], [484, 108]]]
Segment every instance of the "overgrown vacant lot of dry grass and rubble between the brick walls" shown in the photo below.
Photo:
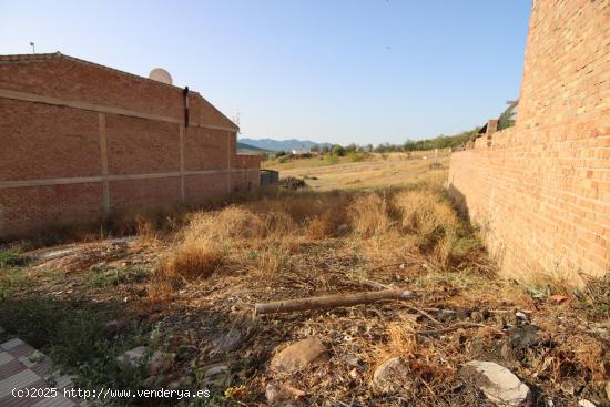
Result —
[[[446, 159], [440, 170], [399, 155], [312, 160], [276, 163], [315, 176], [312, 189], [125, 214], [54, 244], [4, 246], [3, 335], [42, 348], [81, 387], [212, 396], [133, 404], [492, 406], [460, 375], [474, 359], [509, 368], [538, 406], [608, 403], [608, 281], [573, 291], [498, 278], [441, 186]], [[357, 189], [340, 187], [355, 180]], [[416, 298], [253, 315], [255, 303], [384, 288]], [[322, 345], [302, 349], [294, 372], [283, 368], [279, 352], [311, 337]], [[116, 362], [139, 345], [149, 365]], [[313, 348], [323, 352], [309, 362]], [[394, 357], [404, 370], [374, 384]]]

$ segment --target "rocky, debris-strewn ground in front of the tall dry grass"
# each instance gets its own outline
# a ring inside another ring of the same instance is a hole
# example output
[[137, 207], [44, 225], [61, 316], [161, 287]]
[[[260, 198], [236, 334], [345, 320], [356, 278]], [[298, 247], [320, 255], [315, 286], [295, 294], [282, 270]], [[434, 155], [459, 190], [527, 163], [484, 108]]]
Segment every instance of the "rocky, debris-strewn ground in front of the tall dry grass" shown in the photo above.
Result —
[[[110, 334], [144, 326], [156, 337], [116, 363], [146, 365], [143, 387], [210, 388], [213, 404], [609, 405], [610, 326], [573, 297], [535, 298], [516, 283], [417, 261], [354, 273], [358, 260], [334, 251], [303, 258], [304, 267], [326, 264], [324, 274], [261, 279], [236, 271], [149, 302], [145, 269], [154, 267], [154, 252], [115, 240], [23, 253], [39, 277], [21, 294], [125, 304], [120, 319], [104, 322]], [[124, 272], [133, 266], [140, 275]], [[39, 274], [50, 268], [62, 268], [63, 278]], [[100, 274], [119, 277], [111, 289], [91, 289], [88, 278]], [[405, 287], [417, 298], [253, 314], [258, 302], [382, 287]]]

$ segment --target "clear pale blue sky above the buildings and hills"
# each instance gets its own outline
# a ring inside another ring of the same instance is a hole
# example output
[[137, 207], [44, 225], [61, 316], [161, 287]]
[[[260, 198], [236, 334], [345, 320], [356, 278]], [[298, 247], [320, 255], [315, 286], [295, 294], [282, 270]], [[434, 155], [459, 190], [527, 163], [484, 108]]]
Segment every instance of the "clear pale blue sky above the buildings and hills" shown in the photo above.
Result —
[[530, 0], [0, 0], [0, 53], [167, 69], [242, 133], [404, 142], [518, 96]]

